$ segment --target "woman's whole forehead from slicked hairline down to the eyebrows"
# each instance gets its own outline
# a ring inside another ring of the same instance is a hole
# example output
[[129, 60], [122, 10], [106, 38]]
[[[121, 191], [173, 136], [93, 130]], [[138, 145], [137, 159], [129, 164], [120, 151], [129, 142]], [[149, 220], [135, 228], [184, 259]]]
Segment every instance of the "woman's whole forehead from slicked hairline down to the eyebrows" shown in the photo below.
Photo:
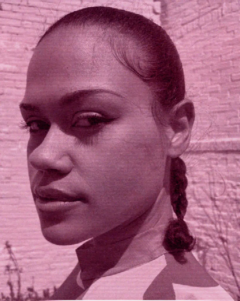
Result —
[[108, 37], [99, 30], [59, 29], [44, 37], [29, 64], [24, 102], [59, 99], [89, 88], [135, 99], [136, 92], [141, 97], [150, 94], [149, 86], [116, 59]]

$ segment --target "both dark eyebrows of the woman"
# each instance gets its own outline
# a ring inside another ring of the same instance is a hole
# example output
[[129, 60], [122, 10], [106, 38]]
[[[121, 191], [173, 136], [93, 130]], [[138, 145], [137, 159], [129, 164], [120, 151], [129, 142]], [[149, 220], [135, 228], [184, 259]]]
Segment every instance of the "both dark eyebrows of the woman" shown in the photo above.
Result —
[[[112, 90], [108, 90], [108, 89], [83, 89], [83, 90], [76, 90], [74, 92], [71, 93], [66, 93], [64, 94], [61, 98], [59, 103], [61, 105], [67, 105], [67, 104], [71, 104], [75, 101], [78, 101], [80, 98], [83, 98], [85, 96], [91, 96], [91, 95], [96, 95], [96, 94], [102, 94], [102, 93], [107, 93], [110, 95], [114, 95], [117, 96], [119, 98], [125, 98], [124, 96], [122, 96], [121, 94], [114, 92]], [[29, 104], [29, 103], [24, 103], [22, 102], [19, 105], [19, 108], [25, 111], [40, 111], [38, 106], [35, 106], [33, 104]]]

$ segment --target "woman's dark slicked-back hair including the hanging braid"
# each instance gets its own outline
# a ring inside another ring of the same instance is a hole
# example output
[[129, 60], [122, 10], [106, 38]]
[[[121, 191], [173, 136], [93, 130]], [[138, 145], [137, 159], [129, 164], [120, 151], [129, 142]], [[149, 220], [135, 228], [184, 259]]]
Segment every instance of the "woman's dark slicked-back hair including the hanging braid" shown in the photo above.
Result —
[[[116, 59], [149, 85], [154, 95], [153, 116], [156, 122], [162, 123], [163, 115], [185, 97], [182, 62], [166, 31], [139, 14], [96, 6], [65, 15], [47, 29], [38, 44], [56, 29], [89, 27], [101, 29]], [[139, 49], [137, 55], [136, 51], [131, 55], [129, 46], [132, 42]], [[171, 159], [170, 197], [177, 219], [169, 222], [163, 245], [180, 263], [186, 262], [184, 251], [189, 252], [195, 244], [184, 222], [187, 209], [185, 173], [186, 166], [183, 160], [179, 157]]]

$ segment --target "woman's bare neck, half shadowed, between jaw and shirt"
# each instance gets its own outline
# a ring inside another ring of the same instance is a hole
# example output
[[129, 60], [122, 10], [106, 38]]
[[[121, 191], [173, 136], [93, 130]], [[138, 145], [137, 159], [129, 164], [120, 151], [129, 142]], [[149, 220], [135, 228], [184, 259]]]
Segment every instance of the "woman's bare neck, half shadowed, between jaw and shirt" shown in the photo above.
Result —
[[123, 272], [166, 253], [162, 241], [171, 217], [170, 196], [163, 188], [155, 203], [143, 215], [88, 240], [76, 249], [81, 279]]

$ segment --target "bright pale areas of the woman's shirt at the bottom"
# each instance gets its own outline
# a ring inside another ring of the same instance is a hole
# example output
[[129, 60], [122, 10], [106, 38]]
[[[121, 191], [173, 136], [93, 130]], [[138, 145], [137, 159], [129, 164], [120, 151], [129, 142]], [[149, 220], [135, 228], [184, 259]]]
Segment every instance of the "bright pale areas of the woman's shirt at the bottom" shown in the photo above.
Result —
[[[165, 256], [160, 256], [151, 262], [131, 268], [127, 271], [102, 277], [95, 281], [84, 293], [82, 293], [78, 300], [144, 300], [152, 297], [157, 297], [158, 300], [165, 300], [170, 290], [167, 287], [161, 287], [161, 284], [156, 288], [149, 289], [155, 278], [161, 274], [167, 263]], [[77, 275], [77, 283], [82, 285], [80, 279], [80, 272]], [[170, 283], [169, 283], [169, 286]], [[220, 286], [212, 287], [197, 287], [191, 285], [183, 285], [172, 282], [174, 299], [171, 300], [226, 300], [233, 299]], [[149, 292], [148, 292], [149, 290]], [[161, 299], [160, 299], [161, 298]], [[167, 299], [166, 298], [166, 299]]]

